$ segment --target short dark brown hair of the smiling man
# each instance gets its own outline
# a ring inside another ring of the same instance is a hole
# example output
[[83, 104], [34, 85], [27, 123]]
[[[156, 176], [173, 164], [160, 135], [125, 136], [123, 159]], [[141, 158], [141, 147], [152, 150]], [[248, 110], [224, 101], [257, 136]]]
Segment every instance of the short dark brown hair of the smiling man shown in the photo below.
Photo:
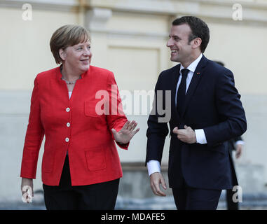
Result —
[[210, 29], [207, 24], [195, 16], [183, 16], [182, 18], [177, 18], [172, 22], [173, 26], [177, 25], [189, 25], [191, 29], [191, 34], [189, 35], [189, 42], [194, 38], [201, 38], [202, 43], [200, 45], [201, 52], [205, 52], [207, 48], [207, 43], [210, 41]]

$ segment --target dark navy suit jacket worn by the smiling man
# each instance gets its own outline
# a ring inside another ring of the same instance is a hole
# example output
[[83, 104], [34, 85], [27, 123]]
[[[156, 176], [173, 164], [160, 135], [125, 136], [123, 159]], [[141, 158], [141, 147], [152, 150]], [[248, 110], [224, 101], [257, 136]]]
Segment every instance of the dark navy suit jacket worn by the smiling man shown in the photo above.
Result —
[[[161, 161], [165, 137], [169, 133], [167, 122], [159, 123], [158, 108], [167, 105], [165, 90], [171, 90], [170, 153], [168, 177], [170, 188], [182, 186], [182, 180], [193, 188], [230, 189], [237, 185], [233, 162], [226, 141], [247, 130], [245, 111], [240, 94], [235, 89], [233, 73], [219, 64], [201, 58], [186, 92], [182, 116], [175, 106], [175, 92], [180, 65], [160, 73], [155, 88], [153, 112], [149, 116], [146, 162]], [[158, 99], [157, 90], [163, 90]], [[207, 144], [185, 144], [172, 133], [174, 127], [190, 126], [203, 129]]]

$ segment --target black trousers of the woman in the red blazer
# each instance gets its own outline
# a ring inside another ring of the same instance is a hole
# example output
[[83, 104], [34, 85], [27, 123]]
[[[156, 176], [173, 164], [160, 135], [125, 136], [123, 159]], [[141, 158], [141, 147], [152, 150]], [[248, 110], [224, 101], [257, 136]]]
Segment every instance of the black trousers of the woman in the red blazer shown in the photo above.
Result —
[[60, 185], [43, 184], [48, 210], [114, 210], [119, 179], [87, 186], [71, 186], [69, 158], [66, 156]]

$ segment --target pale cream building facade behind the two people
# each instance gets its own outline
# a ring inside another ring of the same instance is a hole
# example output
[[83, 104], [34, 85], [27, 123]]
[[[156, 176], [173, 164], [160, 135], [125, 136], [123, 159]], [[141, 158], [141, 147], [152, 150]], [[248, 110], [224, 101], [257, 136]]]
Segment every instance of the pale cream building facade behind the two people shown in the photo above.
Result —
[[[210, 43], [205, 56], [224, 62], [234, 73], [248, 123], [243, 136], [245, 151], [237, 165], [252, 166], [255, 172], [250, 176], [259, 186], [255, 189], [264, 190], [267, 1], [8, 0], [0, 1], [0, 193], [4, 192], [0, 196], [3, 200], [20, 197], [20, 162], [34, 78], [37, 73], [57, 66], [49, 47], [53, 32], [66, 24], [89, 29], [91, 64], [114, 72], [121, 97], [127, 102], [125, 113], [129, 120], [137, 120], [141, 128], [128, 151], [118, 149], [121, 162], [144, 165], [151, 92], [160, 71], [174, 66], [166, 43], [172, 20], [183, 15], [195, 15], [207, 22]], [[163, 165], [167, 163], [168, 146], [166, 141]], [[41, 188], [42, 152], [43, 146], [34, 182], [36, 188]], [[240, 176], [246, 179], [245, 174]]]

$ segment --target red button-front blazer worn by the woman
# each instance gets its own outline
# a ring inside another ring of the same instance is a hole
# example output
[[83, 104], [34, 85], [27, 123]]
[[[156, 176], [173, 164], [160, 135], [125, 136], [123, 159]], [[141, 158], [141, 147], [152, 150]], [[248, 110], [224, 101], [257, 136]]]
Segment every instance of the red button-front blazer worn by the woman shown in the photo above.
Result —
[[[71, 99], [61, 77], [60, 67], [57, 67], [39, 73], [34, 80], [20, 176], [36, 178], [39, 149], [45, 135], [41, 169], [44, 184], [59, 185], [67, 151], [72, 186], [121, 178], [121, 163], [111, 129], [121, 130], [127, 118], [120, 113], [114, 115], [114, 111], [111, 114], [112, 108], [107, 104], [105, 108], [109, 114], [95, 112], [97, 103], [108, 101], [115, 102], [122, 110], [114, 74], [90, 66], [76, 81]], [[96, 99], [99, 90], [106, 93], [102, 99]], [[128, 148], [128, 144], [118, 146]]]

